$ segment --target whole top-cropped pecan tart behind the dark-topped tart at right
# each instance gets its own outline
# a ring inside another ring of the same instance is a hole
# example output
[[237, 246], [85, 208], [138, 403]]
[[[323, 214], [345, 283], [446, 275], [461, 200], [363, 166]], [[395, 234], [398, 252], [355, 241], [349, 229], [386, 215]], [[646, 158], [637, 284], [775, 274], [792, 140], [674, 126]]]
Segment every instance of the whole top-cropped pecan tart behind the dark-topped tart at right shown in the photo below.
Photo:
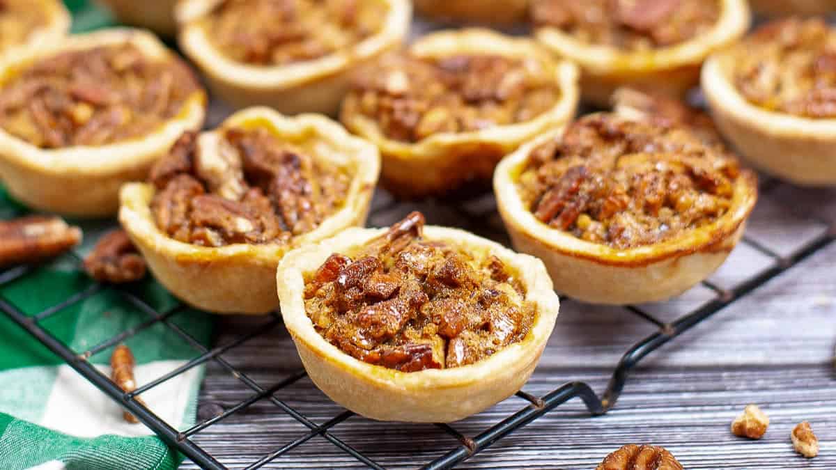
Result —
[[749, 27], [746, 0], [533, 0], [536, 37], [583, 70], [584, 100], [632, 86], [680, 96]]

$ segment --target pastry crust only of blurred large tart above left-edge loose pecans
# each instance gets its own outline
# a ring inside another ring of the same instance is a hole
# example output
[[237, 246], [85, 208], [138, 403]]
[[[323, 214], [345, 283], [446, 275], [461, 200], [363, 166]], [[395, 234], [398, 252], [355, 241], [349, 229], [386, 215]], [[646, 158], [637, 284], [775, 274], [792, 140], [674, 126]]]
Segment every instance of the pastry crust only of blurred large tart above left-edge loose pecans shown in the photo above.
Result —
[[[153, 59], [176, 56], [150, 33], [113, 28], [76, 35], [48, 47], [19, 50], [0, 66], [8, 80], [18, 69], [40, 58], [69, 50], [130, 43]], [[145, 178], [150, 166], [186, 130], [200, 129], [206, 115], [206, 93], [196, 89], [181, 112], [160, 129], [104, 146], [41, 149], [0, 128], [0, 177], [19, 201], [42, 211], [76, 217], [103, 217], [119, 207], [119, 188]]]

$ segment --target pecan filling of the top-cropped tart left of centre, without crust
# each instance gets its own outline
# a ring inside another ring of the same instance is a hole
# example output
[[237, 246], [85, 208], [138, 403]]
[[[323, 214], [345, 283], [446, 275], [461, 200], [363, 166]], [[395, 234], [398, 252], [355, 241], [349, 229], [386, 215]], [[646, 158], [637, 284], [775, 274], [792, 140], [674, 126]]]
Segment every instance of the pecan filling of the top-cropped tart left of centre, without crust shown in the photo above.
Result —
[[204, 27], [237, 62], [281, 65], [349, 48], [379, 31], [385, 16], [379, 0], [225, 0]]

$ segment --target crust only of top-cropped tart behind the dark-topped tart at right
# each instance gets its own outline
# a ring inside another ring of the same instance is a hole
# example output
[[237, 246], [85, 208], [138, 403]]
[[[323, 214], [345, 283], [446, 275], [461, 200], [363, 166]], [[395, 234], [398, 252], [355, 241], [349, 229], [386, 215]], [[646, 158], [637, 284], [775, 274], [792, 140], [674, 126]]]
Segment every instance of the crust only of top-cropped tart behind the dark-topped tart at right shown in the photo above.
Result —
[[555, 54], [580, 65], [584, 100], [595, 105], [608, 105], [614, 90], [621, 86], [680, 97], [699, 82], [700, 66], [706, 57], [742, 37], [749, 28], [745, 0], [718, 1], [720, 18], [709, 31], [659, 49], [619, 50], [585, 43], [551, 27], [537, 28], [535, 37]]

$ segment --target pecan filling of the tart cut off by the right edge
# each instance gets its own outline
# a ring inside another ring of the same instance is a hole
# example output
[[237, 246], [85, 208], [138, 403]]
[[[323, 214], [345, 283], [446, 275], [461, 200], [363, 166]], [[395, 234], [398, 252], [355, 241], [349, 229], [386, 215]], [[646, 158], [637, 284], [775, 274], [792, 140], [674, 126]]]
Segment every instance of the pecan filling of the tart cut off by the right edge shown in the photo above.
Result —
[[734, 84], [754, 105], [836, 117], [836, 29], [821, 18], [768, 23], [734, 50]]

